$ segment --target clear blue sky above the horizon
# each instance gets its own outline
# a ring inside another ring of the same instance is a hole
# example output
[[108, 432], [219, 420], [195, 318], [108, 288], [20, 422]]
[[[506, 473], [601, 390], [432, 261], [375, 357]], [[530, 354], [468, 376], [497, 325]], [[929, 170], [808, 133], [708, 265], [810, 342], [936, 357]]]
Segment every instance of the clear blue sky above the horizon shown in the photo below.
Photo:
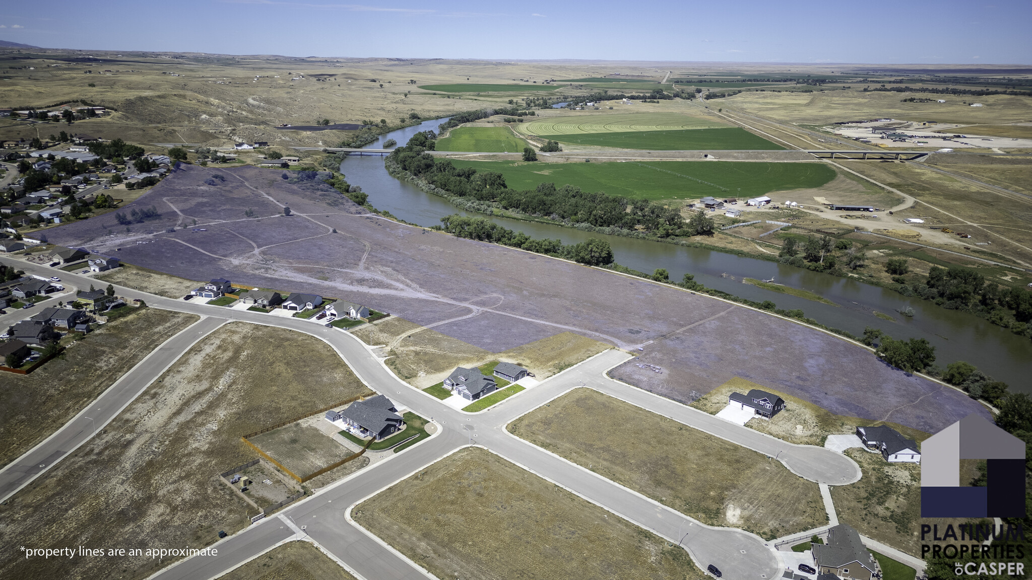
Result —
[[292, 57], [1032, 64], [1032, 1], [0, 0], [0, 39]]

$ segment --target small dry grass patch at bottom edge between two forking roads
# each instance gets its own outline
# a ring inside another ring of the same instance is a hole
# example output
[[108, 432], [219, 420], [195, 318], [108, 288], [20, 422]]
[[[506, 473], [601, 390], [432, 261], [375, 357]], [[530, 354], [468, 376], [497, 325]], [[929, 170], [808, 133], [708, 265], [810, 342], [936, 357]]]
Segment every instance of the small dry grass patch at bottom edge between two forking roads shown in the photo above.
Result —
[[219, 580], [355, 580], [314, 544], [289, 542]]

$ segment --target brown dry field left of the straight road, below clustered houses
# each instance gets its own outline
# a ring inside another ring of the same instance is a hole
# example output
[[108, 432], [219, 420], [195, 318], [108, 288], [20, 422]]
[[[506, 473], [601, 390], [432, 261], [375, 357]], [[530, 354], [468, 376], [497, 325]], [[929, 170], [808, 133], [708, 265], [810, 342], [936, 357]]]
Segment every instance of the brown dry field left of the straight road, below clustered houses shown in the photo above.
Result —
[[31, 375], [0, 380], [0, 465], [13, 461], [74, 417], [180, 330], [192, 314], [143, 309], [104, 324]]

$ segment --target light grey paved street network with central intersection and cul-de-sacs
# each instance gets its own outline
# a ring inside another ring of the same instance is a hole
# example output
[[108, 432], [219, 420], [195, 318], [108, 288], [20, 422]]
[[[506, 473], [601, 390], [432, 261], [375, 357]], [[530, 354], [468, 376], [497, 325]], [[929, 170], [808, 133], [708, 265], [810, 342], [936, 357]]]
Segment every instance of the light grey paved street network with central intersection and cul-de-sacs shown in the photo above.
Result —
[[[25, 264], [22, 267], [26, 271], [31, 271], [30, 268], [45, 269], [45, 266], [35, 264]], [[88, 281], [86, 277], [79, 275], [71, 275], [68, 278], [79, 283]], [[78, 278], [83, 281], [77, 281]], [[350, 479], [321, 489], [316, 495], [281, 512], [298, 526], [307, 526], [305, 533], [311, 535], [312, 539], [347, 561], [367, 580], [415, 579], [425, 576], [421, 570], [413, 568], [406, 559], [348, 522], [345, 517], [347, 509], [443, 455], [469, 445], [471, 441], [566, 486], [668, 540], [678, 542], [682, 540], [679, 536], [683, 536], [682, 545], [698, 562], [704, 567], [707, 563], [715, 563], [730, 579], [773, 578], [777, 573], [777, 560], [760, 538], [738, 529], [705, 526], [505, 431], [505, 424], [513, 418], [579, 386], [582, 382], [646, 409], [683, 420], [687, 424], [701, 425], [701, 428], [723, 439], [742, 442], [753, 449], [777, 455], [778, 460], [785, 462], [789, 469], [800, 474], [809, 474], [817, 480], [838, 479], [836, 483], [844, 483], [842, 477], [850, 481], [859, 477], [856, 465], [851, 465], [854, 472], [846, 473], [848, 466], [837, 460], [841, 456], [829, 456], [827, 455], [829, 452], [823, 448], [793, 446], [773, 440], [751, 429], [607, 379], [604, 372], [627, 356], [616, 351], [605, 353], [572, 368], [495, 409], [474, 415], [453, 410], [437, 398], [402, 383], [382, 364], [370, 349], [351, 334], [338, 329], [326, 328], [301, 319], [191, 303], [130, 288], [118, 286], [116, 288], [120, 295], [143, 298], [152, 307], [290, 328], [322, 339], [336, 349], [362, 382], [441, 425], [440, 433], [411, 448], [409, 452], [393, 455], [355, 474]], [[473, 430], [463, 429], [465, 426], [472, 427]], [[823, 464], [827, 468], [825, 471], [820, 469]], [[279, 518], [260, 521], [220, 542], [218, 556], [193, 557], [159, 572], [155, 577], [160, 577], [162, 580], [214, 577], [288, 538], [291, 530], [289, 526], [282, 527], [284, 521]]]

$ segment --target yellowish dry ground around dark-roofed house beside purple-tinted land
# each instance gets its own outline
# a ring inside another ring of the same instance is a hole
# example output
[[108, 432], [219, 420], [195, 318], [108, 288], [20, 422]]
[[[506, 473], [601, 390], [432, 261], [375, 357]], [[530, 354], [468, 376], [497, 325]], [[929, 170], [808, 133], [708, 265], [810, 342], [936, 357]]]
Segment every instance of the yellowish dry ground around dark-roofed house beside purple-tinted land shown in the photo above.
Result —
[[[749, 389], [761, 389], [774, 393], [784, 399], [786, 407], [773, 419], [751, 419], [745, 426], [778, 439], [798, 445], [816, 445], [824, 447], [825, 438], [836, 433], [856, 432], [858, 426], [889, 425], [915, 441], [924, 441], [931, 433], [905, 427], [898, 423], [886, 421], [867, 421], [857, 417], [835, 415], [812, 402], [799, 397], [779, 392], [765, 385], [757, 385], [740, 377], [728, 381], [702, 397], [696, 399], [690, 407], [716, 415], [728, 406], [728, 395], [733, 392], [747, 393]], [[799, 427], [802, 426], [800, 429]]]

